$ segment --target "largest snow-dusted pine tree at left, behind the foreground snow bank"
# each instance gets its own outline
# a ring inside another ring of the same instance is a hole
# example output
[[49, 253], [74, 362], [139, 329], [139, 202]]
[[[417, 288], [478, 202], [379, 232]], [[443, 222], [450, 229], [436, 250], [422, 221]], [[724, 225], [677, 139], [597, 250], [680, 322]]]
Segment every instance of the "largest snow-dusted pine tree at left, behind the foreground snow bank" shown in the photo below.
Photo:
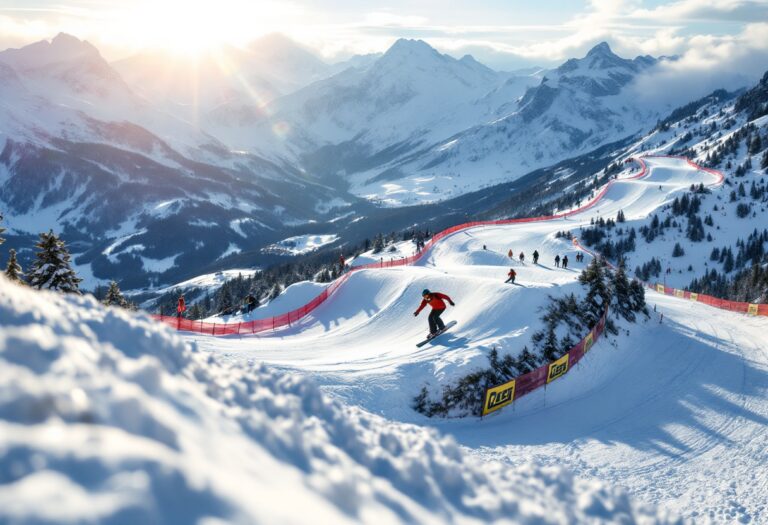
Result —
[[40, 251], [29, 270], [29, 285], [33, 288], [80, 294], [79, 279], [70, 266], [69, 250], [53, 230], [41, 233], [35, 244]]

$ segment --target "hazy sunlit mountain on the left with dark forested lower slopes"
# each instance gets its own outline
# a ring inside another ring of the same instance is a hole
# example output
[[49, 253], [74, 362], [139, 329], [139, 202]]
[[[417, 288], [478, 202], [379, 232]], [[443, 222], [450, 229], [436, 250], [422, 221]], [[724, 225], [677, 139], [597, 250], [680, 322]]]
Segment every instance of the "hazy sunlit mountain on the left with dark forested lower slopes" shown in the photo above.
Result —
[[0, 52], [0, 93], [9, 244], [26, 266], [39, 232], [63, 233], [88, 288], [191, 277], [356, 201], [291, 165], [228, 149], [68, 35]]

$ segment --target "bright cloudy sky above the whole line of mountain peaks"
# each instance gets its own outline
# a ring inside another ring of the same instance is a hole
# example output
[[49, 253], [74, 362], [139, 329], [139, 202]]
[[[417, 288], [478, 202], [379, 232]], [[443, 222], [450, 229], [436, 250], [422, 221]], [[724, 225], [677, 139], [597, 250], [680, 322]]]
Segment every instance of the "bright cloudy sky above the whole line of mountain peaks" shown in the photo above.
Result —
[[768, 0], [0, 0], [0, 48], [59, 32], [111, 60], [280, 32], [329, 62], [407, 37], [513, 70], [556, 65], [606, 40], [622, 56], [680, 55], [700, 68], [743, 60], [746, 49], [760, 55], [757, 69], [768, 47]]

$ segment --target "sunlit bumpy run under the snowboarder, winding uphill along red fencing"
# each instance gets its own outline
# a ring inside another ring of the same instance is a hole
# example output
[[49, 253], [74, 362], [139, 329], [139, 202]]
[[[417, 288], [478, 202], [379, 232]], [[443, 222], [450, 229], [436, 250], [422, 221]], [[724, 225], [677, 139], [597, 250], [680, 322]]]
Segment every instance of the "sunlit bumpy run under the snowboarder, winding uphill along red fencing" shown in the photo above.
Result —
[[[624, 172], [598, 201], [567, 218], [478, 227], [446, 237], [414, 266], [361, 270], [310, 315], [274, 332], [247, 337], [190, 335], [206, 349], [231, 359], [267, 362], [312, 372], [327, 389], [351, 402], [413, 420], [410, 401], [425, 381], [443, 381], [466, 366], [484, 363], [496, 346], [519, 351], [537, 324], [538, 308], [549, 294], [577, 292], [577, 276], [588, 263], [575, 262], [575, 249], [558, 231], [576, 232], [592, 219], [645, 217], [691, 184], [711, 184], [714, 177], [685, 161], [647, 160], [648, 173], [629, 179]], [[621, 177], [627, 177], [622, 180]], [[485, 246], [485, 249], [484, 249]], [[510, 261], [527, 254], [528, 262]], [[538, 250], [538, 265], [531, 264]], [[568, 269], [555, 268], [555, 255], [568, 254]], [[517, 285], [503, 284], [509, 267]], [[434, 344], [415, 345], [427, 333], [426, 314], [414, 319], [424, 288], [456, 301], [444, 320], [457, 326]], [[361, 399], [361, 396], [363, 398]]]

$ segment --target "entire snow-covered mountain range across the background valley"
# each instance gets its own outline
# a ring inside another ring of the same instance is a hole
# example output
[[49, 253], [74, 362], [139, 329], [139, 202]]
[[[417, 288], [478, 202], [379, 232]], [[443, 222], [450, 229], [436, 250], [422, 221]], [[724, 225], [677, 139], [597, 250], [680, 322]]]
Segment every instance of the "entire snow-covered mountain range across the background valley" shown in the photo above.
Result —
[[[422, 41], [341, 71], [279, 37], [229, 51], [240, 65], [227, 73], [209, 57], [198, 80], [213, 98], [194, 116], [184, 93], [152, 75], [162, 57], [108, 64], [68, 35], [0, 53], [0, 207], [22, 265], [35, 235], [54, 227], [89, 288], [112, 278], [156, 287], [226, 261], [264, 266], [279, 259], [264, 248], [284, 239], [338, 235], [339, 246], [378, 233], [377, 217], [412, 225], [415, 208], [377, 205], [487, 189], [632, 135], [656, 114], [627, 91], [654, 59], [603, 44], [524, 74]], [[266, 70], [287, 79], [269, 103], [231, 85]]]

